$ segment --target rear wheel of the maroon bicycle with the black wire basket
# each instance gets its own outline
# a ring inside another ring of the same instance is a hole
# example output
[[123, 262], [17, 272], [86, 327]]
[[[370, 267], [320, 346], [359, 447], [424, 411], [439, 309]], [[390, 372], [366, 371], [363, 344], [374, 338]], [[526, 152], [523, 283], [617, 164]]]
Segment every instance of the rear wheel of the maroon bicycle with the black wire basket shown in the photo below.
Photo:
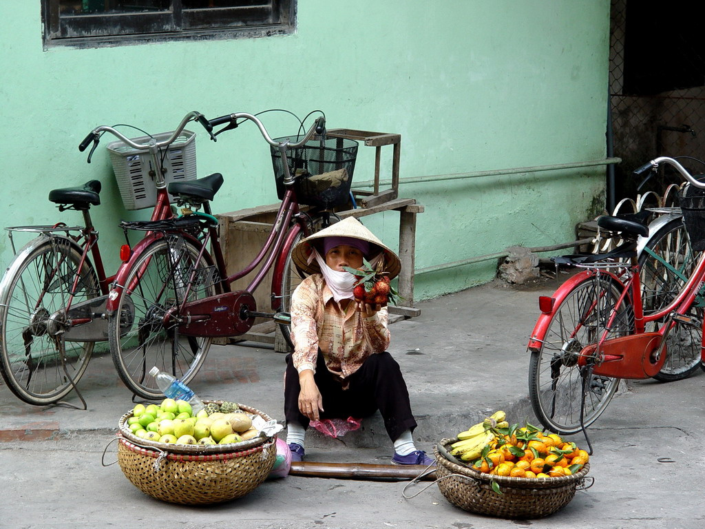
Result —
[[204, 280], [192, 287], [188, 300], [215, 293], [214, 267], [207, 253], [195, 265], [198, 255], [197, 245], [183, 236], [165, 236], [148, 245], [125, 276], [118, 308], [109, 318], [108, 338], [118, 375], [143, 399], [164, 398], [154, 378], [148, 376], [153, 366], [188, 384], [206, 358], [210, 338], [178, 336], [176, 324], [164, 326], [166, 312], [183, 301], [194, 266]]

